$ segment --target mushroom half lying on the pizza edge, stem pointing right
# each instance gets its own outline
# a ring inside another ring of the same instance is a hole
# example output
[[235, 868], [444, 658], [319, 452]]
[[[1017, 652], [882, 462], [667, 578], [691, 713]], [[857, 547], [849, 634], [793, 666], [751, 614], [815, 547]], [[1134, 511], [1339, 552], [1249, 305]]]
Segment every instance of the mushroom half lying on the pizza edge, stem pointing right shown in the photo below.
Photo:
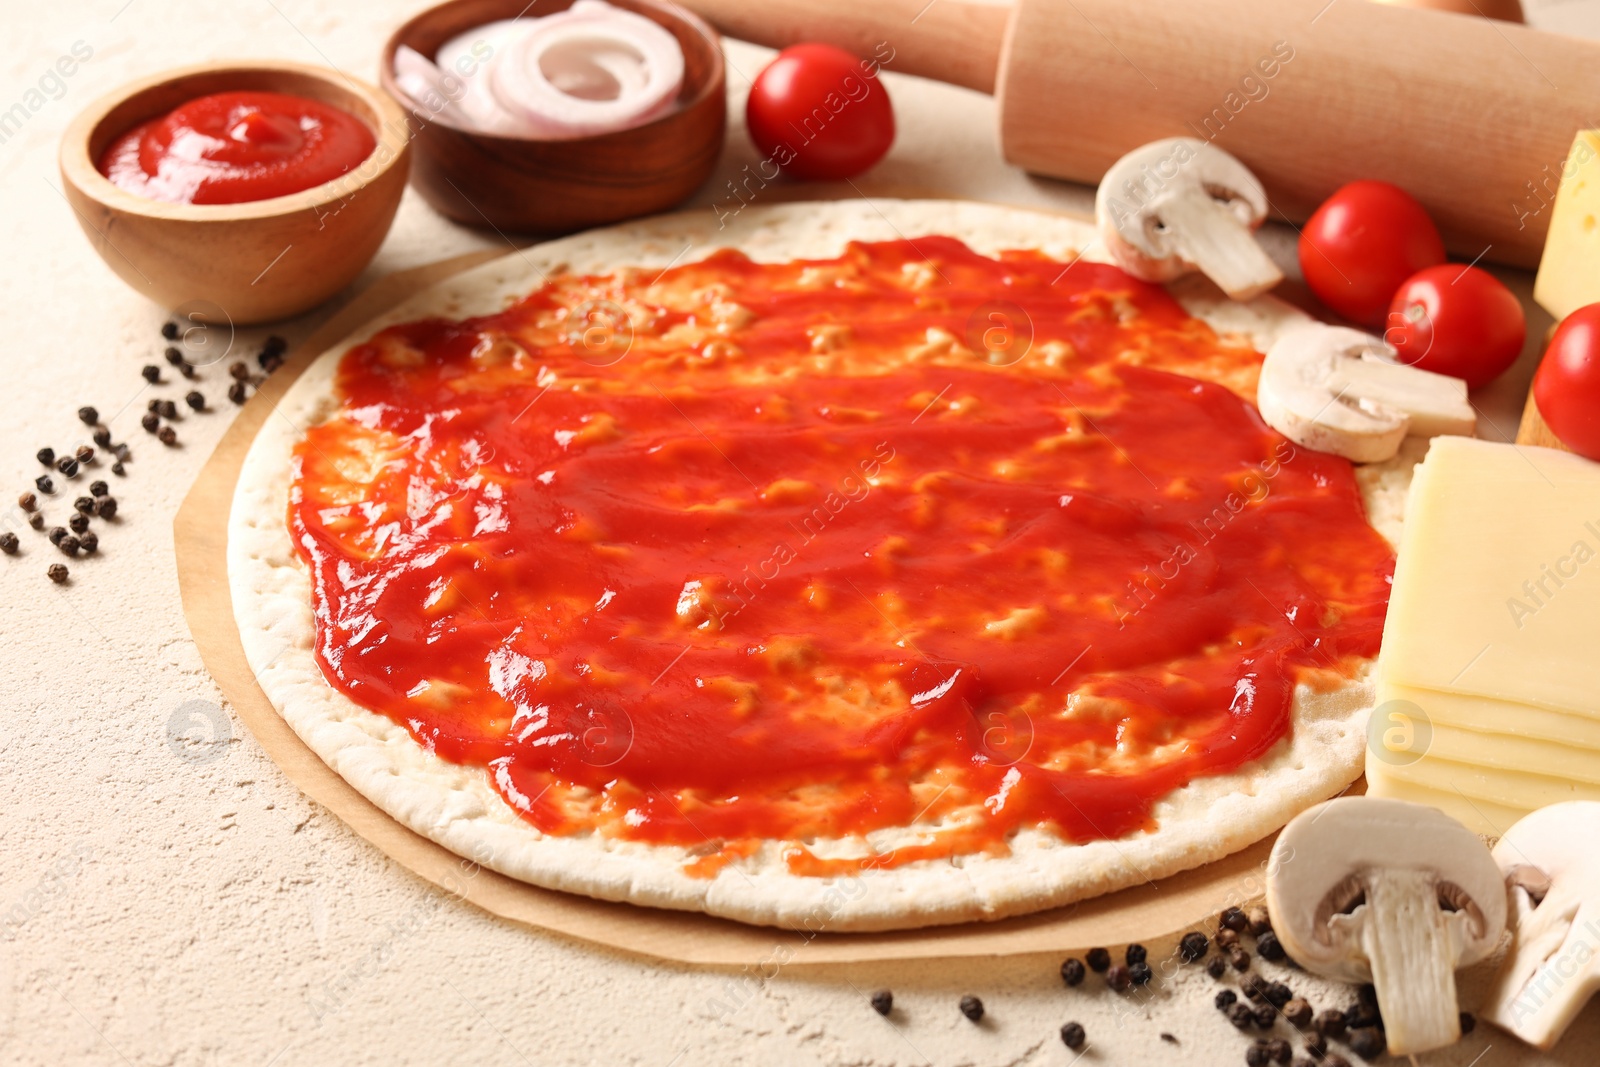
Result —
[[1394, 360], [1392, 347], [1360, 330], [1294, 326], [1267, 349], [1256, 406], [1296, 445], [1355, 462], [1389, 459], [1408, 434], [1472, 437], [1464, 381]]

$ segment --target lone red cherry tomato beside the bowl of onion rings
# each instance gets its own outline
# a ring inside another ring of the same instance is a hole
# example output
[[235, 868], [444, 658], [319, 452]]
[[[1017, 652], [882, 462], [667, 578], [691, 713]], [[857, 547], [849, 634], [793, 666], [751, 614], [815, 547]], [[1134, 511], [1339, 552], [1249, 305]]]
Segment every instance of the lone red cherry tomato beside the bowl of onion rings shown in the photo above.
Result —
[[790, 45], [755, 75], [750, 139], [786, 174], [854, 178], [894, 142], [894, 109], [877, 66], [834, 45]]

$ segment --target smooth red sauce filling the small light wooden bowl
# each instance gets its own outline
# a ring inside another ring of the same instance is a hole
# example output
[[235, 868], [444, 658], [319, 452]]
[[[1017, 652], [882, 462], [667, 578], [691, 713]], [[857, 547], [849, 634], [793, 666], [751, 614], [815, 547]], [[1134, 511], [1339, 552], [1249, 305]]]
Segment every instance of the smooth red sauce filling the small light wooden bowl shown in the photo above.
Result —
[[214, 93], [134, 126], [99, 171], [170, 203], [245, 203], [322, 186], [376, 147], [355, 115], [285, 93]]

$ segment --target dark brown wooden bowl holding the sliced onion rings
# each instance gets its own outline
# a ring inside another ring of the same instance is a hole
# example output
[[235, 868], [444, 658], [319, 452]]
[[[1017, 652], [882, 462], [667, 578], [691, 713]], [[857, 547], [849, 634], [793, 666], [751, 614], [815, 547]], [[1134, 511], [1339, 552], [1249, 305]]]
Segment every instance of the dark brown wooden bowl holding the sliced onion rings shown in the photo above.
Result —
[[[526, 0], [450, 0], [418, 14], [384, 45], [382, 86], [406, 109], [416, 139], [411, 184], [446, 218], [523, 234], [570, 234], [653, 214], [693, 194], [722, 152], [728, 102], [722, 42], [698, 16], [658, 0], [610, 0], [666, 27], [683, 48], [677, 107], [632, 130], [533, 141], [446, 126], [394, 78], [395, 50], [427, 58], [451, 37], [528, 10]], [[541, 3], [538, 14], [573, 0]]]

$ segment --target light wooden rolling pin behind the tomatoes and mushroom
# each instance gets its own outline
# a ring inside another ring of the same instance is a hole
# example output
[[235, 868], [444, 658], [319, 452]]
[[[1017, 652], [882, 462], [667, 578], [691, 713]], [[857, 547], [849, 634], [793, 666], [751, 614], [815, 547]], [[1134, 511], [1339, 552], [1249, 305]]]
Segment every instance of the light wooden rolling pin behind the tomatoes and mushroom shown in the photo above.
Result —
[[1600, 125], [1600, 43], [1366, 0], [680, 2], [730, 37], [886, 46], [890, 70], [992, 91], [1005, 158], [1040, 174], [1096, 184], [1147, 141], [1205, 138], [1282, 218], [1381, 178], [1451, 251], [1520, 267]]

